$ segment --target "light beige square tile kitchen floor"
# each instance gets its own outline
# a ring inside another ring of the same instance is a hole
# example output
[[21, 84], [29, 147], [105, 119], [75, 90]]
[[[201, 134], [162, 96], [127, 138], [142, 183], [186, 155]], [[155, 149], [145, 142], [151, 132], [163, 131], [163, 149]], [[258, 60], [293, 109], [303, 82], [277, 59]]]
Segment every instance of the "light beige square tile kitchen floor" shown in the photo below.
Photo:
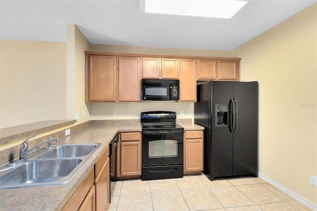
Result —
[[260, 178], [210, 181], [204, 174], [116, 183], [109, 211], [310, 211]]

